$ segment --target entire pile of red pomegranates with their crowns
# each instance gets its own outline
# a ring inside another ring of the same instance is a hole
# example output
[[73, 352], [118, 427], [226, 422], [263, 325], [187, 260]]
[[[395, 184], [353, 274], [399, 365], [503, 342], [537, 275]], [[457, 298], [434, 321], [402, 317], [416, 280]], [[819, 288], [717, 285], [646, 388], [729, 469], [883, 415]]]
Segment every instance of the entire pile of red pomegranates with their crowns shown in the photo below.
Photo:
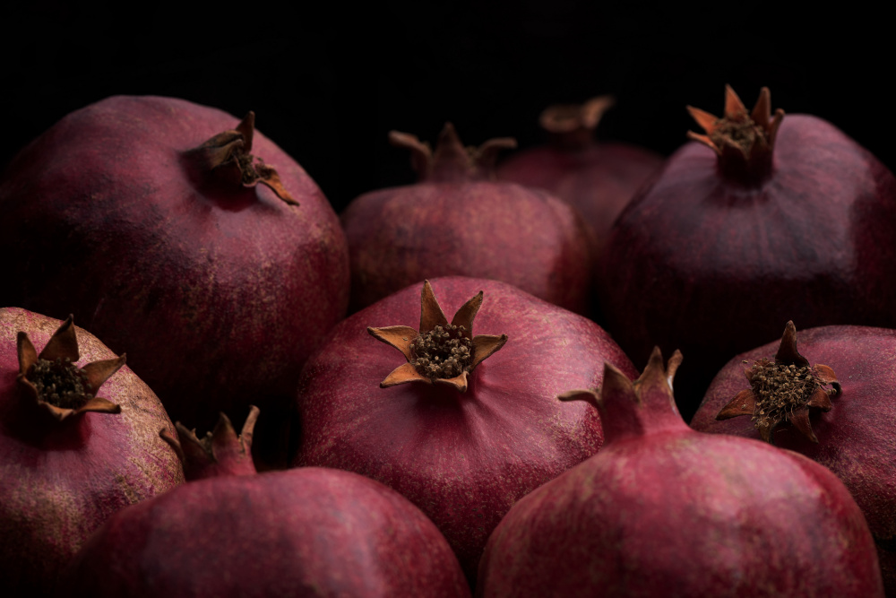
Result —
[[613, 101], [501, 163], [393, 132], [418, 183], [341, 214], [252, 112], [22, 149], [0, 587], [896, 596], [896, 178], [768, 89], [668, 159]]

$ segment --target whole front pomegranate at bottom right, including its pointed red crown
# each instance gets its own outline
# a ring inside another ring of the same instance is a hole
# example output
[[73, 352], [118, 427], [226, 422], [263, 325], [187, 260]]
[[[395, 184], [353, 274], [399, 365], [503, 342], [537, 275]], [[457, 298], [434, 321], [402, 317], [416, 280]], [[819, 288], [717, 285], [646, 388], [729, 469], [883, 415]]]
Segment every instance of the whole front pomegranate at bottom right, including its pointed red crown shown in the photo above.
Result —
[[883, 596], [874, 540], [828, 469], [690, 429], [655, 350], [607, 364], [598, 455], [522, 498], [488, 540], [478, 596]]

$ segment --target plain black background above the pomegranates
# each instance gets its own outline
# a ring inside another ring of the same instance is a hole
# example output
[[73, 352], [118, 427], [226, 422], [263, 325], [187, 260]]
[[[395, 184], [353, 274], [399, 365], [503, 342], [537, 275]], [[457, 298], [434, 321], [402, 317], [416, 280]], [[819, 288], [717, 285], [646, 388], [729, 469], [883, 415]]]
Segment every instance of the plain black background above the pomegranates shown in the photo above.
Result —
[[892, 33], [860, 4], [310, 5], [5, 8], [0, 163], [109, 95], [177, 96], [239, 117], [254, 110], [340, 211], [414, 180], [390, 129], [435, 141], [450, 120], [464, 143], [510, 135], [528, 147], [542, 142], [548, 104], [613, 93], [599, 138], [668, 155], [694, 128], [685, 105], [718, 114], [725, 83], [748, 106], [767, 85], [773, 108], [824, 117], [891, 169], [896, 160]]

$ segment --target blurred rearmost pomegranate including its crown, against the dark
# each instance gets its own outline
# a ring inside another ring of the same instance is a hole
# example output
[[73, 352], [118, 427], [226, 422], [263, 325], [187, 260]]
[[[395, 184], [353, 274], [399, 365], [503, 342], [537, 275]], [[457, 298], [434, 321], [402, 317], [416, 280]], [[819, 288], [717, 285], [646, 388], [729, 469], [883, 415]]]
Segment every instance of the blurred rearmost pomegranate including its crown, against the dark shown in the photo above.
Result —
[[547, 189], [573, 204], [590, 226], [597, 252], [616, 216], [664, 160], [629, 143], [595, 141], [594, 130], [613, 104], [611, 96], [599, 96], [546, 108], [538, 121], [549, 143], [514, 153], [497, 167], [502, 180]]

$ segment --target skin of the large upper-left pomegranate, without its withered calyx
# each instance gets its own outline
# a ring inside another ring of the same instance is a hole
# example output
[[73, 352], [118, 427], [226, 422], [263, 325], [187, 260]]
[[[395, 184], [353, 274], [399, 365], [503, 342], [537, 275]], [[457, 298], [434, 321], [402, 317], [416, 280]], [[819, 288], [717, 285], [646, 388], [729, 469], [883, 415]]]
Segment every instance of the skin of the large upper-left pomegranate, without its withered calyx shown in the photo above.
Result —
[[184, 152], [238, 122], [185, 100], [109, 98], [30, 143], [0, 182], [0, 305], [73, 313], [190, 427], [291, 396], [348, 304], [339, 220], [286, 153], [255, 131], [252, 153], [299, 206], [188, 166]]

